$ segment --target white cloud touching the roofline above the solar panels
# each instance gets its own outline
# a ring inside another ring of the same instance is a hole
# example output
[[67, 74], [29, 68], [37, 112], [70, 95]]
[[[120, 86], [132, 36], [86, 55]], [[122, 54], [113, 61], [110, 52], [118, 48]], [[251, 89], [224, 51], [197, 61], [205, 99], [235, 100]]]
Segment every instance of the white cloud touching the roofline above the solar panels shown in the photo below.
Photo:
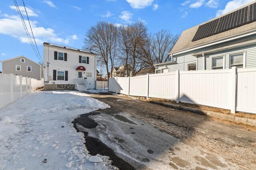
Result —
[[253, 2], [253, 1], [255, 0], [231, 0], [226, 4], [224, 10], [218, 10], [216, 16], [226, 14], [232, 10], [240, 8], [241, 6], [249, 4], [250, 2]]

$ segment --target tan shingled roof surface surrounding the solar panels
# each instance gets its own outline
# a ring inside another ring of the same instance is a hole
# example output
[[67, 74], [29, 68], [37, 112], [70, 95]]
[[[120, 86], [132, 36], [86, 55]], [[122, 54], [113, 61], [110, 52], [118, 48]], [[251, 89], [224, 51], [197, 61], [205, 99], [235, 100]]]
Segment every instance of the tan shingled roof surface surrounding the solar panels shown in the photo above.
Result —
[[[253, 4], [253, 3], [255, 3], [255, 2], [252, 2], [250, 4]], [[247, 4], [245, 6], [248, 6], [248, 5], [249, 4]], [[244, 8], [245, 6], [243, 6], [241, 8]], [[240, 9], [240, 8], [238, 8], [238, 9]], [[236, 10], [238, 10], [238, 9], [236, 9]], [[233, 11], [227, 13], [227, 14], [230, 14], [230, 13], [236, 11], [236, 10], [233, 10]], [[222, 16], [226, 16], [227, 14], [224, 14]], [[218, 16], [218, 17], [216, 17], [212, 20], [216, 20], [217, 18], [220, 18], [222, 16]], [[212, 20], [209, 20], [209, 21], [212, 21]], [[206, 21], [204, 23], [208, 23], [209, 21]], [[211, 43], [211, 42], [214, 42], [214, 41], [218, 41], [220, 39], [231, 37], [231, 36], [234, 36], [234, 35], [239, 35], [239, 34], [247, 32], [247, 31], [254, 31], [254, 30], [256, 31], [256, 21], [253, 21], [251, 23], [248, 23], [246, 25], [242, 25], [240, 27], [235, 27], [235, 28], [230, 29], [228, 31], [224, 31], [224, 32], [221, 32], [221, 33], [217, 33], [215, 35], [211, 35], [209, 37], [205, 37], [205, 38], [202, 38], [202, 39], [199, 39], [199, 40], [196, 40], [196, 41], [192, 41], [194, 35], [196, 34], [196, 31], [198, 30], [198, 27], [200, 25], [203, 25], [204, 23], [201, 23], [201, 24], [196, 25], [192, 28], [184, 30], [169, 54], [184, 51], [186, 49], [191, 49], [192, 47], [197, 47], [197, 46], [200, 46], [200, 45], [204, 45], [204, 44]]]

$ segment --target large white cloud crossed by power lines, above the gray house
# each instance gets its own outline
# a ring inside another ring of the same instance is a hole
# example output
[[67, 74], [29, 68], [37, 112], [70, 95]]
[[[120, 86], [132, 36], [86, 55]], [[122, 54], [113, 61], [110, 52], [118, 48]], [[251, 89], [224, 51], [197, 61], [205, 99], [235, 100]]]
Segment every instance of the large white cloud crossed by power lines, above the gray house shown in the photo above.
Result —
[[[28, 26], [28, 20], [24, 20], [26, 25]], [[37, 21], [30, 20], [30, 24], [36, 39], [36, 43], [38, 45], [43, 42], [51, 42], [51, 43], [60, 43], [69, 45], [72, 41], [78, 39], [76, 35], [68, 36], [66, 38], [61, 38], [55, 30], [52, 28], [44, 28], [38, 25]], [[16, 39], [19, 39], [21, 43], [30, 43], [25, 29], [22, 25], [22, 21], [18, 15], [9, 16], [7, 14], [3, 14], [0, 19], [0, 33], [5, 35], [10, 35]], [[28, 29], [30, 32], [30, 29]], [[30, 32], [31, 35], [31, 32]]]

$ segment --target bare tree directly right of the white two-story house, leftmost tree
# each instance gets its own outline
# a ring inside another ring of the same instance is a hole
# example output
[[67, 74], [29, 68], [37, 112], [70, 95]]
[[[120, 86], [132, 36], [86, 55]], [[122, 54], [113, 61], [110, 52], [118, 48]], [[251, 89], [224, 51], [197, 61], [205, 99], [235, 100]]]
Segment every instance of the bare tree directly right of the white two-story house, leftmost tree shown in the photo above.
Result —
[[110, 66], [110, 76], [112, 76], [112, 68], [117, 56], [117, 47], [118, 29], [113, 23], [100, 21], [95, 26], [90, 27], [86, 33], [84, 48], [91, 49], [97, 54], [97, 61], [100, 65], [106, 66], [107, 75]]

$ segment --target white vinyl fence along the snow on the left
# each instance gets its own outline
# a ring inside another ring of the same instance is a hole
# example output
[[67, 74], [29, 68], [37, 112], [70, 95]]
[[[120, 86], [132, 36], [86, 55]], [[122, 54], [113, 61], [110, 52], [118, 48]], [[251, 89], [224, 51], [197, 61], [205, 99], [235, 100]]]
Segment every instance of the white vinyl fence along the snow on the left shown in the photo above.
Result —
[[44, 80], [0, 74], [0, 109], [44, 86]]

